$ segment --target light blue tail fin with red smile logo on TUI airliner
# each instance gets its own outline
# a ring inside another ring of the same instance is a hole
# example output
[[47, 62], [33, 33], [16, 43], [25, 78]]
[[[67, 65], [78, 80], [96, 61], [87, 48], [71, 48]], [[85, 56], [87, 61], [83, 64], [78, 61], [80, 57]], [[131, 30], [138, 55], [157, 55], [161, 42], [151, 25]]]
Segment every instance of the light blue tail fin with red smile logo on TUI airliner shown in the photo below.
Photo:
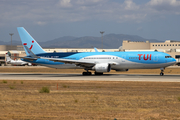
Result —
[[46, 53], [42, 49], [42, 47], [35, 41], [35, 39], [23, 27], [18, 27], [17, 30], [27, 56], [30, 54], [25, 48], [25, 46], [27, 46], [34, 54]]

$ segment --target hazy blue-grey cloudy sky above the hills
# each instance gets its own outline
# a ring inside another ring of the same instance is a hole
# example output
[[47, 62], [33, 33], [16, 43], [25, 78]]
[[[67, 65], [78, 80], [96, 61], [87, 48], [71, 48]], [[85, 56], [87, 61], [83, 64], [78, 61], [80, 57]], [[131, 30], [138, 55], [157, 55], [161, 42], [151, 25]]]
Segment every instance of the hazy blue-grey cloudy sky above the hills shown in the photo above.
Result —
[[17, 27], [41, 42], [100, 31], [180, 41], [180, 0], [0, 0], [0, 41], [20, 40]]

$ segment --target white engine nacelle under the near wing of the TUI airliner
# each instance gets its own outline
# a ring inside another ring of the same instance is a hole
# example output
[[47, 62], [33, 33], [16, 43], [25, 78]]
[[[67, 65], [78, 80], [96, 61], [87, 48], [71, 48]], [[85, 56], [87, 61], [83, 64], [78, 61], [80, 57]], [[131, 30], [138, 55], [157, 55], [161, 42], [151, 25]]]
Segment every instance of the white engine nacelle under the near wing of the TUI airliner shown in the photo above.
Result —
[[108, 63], [99, 63], [93, 67], [93, 70], [95, 70], [96, 72], [110, 72], [111, 65]]

